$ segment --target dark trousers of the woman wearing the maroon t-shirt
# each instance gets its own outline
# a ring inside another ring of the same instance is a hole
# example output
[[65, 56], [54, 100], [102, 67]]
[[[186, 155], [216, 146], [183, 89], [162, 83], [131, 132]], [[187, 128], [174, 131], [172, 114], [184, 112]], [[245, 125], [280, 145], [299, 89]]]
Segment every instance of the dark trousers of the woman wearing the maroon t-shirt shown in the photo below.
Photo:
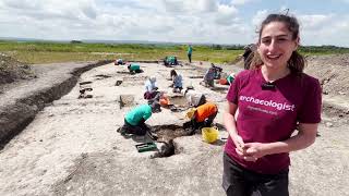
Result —
[[222, 187], [227, 196], [288, 196], [288, 169], [261, 174], [242, 168], [224, 154]]

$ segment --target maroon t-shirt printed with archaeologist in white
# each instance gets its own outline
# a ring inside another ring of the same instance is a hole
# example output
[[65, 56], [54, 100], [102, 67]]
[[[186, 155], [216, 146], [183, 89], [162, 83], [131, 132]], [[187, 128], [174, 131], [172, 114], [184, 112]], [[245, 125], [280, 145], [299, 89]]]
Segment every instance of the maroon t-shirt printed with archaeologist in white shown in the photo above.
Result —
[[[244, 143], [273, 143], [290, 138], [297, 122], [321, 121], [322, 90], [316, 78], [306, 74], [289, 74], [275, 81], [274, 89], [265, 84], [261, 69], [242, 71], [231, 84], [227, 100], [237, 105], [238, 134]], [[288, 154], [275, 154], [245, 161], [236, 152], [231, 138], [225, 151], [242, 167], [265, 174], [278, 173], [290, 164]]]

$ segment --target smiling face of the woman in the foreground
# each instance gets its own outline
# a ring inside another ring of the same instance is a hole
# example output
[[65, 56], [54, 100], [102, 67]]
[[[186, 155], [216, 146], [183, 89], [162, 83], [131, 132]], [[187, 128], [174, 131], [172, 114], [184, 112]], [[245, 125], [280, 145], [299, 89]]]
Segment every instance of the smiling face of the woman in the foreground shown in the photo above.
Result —
[[258, 53], [263, 63], [273, 69], [287, 68], [287, 61], [297, 50], [299, 38], [292, 40], [292, 34], [281, 22], [272, 22], [264, 26], [258, 44]]

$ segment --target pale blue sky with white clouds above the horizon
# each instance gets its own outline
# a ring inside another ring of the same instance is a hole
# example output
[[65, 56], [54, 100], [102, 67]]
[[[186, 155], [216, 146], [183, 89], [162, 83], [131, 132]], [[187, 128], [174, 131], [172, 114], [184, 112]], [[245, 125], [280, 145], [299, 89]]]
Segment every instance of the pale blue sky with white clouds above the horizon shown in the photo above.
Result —
[[0, 37], [244, 45], [286, 9], [302, 45], [349, 47], [349, 0], [0, 0]]

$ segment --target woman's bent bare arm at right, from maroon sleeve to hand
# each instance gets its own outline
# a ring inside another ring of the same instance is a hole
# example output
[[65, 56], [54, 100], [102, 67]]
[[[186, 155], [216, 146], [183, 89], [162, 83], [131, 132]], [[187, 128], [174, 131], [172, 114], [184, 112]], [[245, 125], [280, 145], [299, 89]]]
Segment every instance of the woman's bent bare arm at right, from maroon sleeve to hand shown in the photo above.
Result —
[[317, 123], [306, 124], [300, 123], [300, 128], [297, 135], [284, 142], [275, 143], [248, 143], [244, 145], [243, 151], [239, 155], [245, 160], [255, 161], [257, 158], [266, 155], [290, 152], [304, 149], [315, 142]]

